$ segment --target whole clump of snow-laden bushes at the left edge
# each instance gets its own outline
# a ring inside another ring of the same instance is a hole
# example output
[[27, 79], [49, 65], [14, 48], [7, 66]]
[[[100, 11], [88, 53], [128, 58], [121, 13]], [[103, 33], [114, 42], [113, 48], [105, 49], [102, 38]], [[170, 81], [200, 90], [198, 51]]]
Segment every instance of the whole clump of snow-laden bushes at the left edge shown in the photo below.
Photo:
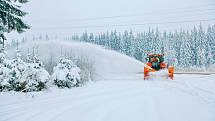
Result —
[[15, 59], [7, 60], [0, 52], [0, 91], [41, 91], [49, 80], [49, 73], [36, 56], [32, 63], [25, 63], [19, 53]]

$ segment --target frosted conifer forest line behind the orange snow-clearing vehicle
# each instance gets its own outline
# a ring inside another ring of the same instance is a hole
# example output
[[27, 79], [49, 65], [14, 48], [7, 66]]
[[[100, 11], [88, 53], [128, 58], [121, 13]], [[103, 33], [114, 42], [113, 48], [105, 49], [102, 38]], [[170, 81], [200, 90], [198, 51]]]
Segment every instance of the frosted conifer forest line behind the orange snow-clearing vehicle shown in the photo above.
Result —
[[160, 32], [158, 28], [138, 33], [132, 30], [97, 35], [84, 32], [73, 35], [72, 39], [102, 45], [142, 62], [148, 53], [163, 53], [166, 62], [175, 61], [175, 65], [182, 68], [207, 68], [215, 64], [215, 25], [205, 30], [200, 24], [191, 30], [174, 32]]

